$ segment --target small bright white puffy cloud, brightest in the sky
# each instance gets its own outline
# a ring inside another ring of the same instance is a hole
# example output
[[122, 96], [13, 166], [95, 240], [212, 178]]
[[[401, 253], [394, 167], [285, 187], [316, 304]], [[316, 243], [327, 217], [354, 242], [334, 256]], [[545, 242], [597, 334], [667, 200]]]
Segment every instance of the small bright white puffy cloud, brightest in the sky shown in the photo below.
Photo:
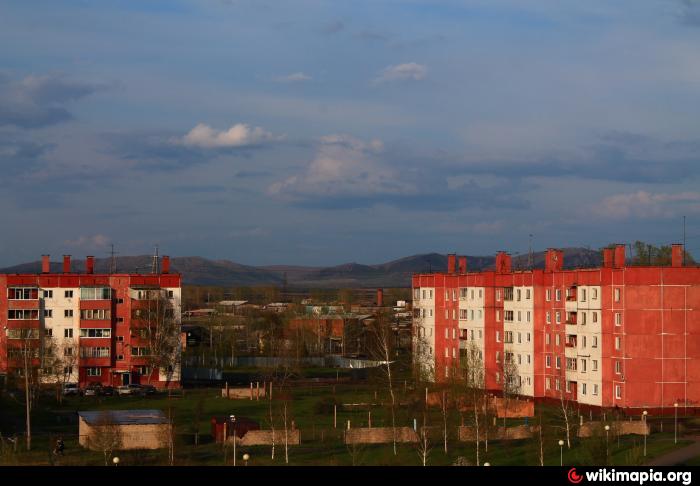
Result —
[[251, 127], [245, 123], [236, 123], [228, 130], [222, 131], [199, 123], [184, 137], [175, 139], [174, 142], [189, 147], [225, 148], [258, 145], [263, 142], [279, 141], [283, 138], [283, 136], [275, 136], [260, 127]]

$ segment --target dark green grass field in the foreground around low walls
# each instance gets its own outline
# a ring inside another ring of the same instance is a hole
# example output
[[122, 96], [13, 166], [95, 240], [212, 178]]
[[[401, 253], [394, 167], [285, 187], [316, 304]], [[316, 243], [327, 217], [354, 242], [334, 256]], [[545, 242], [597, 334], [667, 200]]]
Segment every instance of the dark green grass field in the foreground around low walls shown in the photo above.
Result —
[[[415, 397], [410, 389], [403, 389], [403, 384], [397, 387], [398, 400], [396, 422], [398, 426], [413, 426], [416, 418], [422, 422], [422, 402]], [[51, 396], [43, 397], [33, 413], [33, 443], [32, 451], [23, 449], [23, 439], [20, 437], [18, 451], [7, 446], [0, 454], [0, 463], [17, 465], [102, 465], [104, 457], [101, 453], [91, 452], [78, 445], [78, 426], [76, 412], [79, 410], [103, 409], [135, 409], [155, 408], [163, 411], [170, 409], [175, 424], [175, 464], [178, 465], [224, 465], [232, 464], [232, 450], [225, 451], [220, 444], [215, 444], [210, 435], [209, 420], [216, 415], [235, 414], [248, 417], [260, 423], [261, 428], [269, 428], [270, 402], [265, 399], [257, 400], [227, 400], [221, 398], [220, 389], [201, 388], [185, 390], [184, 396], [168, 398], [165, 395], [152, 397], [68, 397], [59, 405]], [[373, 427], [390, 425], [390, 415], [386, 404], [385, 389], [371, 385], [337, 384], [326, 386], [298, 385], [291, 387], [285, 393], [278, 393], [278, 398], [272, 401], [275, 427], [282, 429], [281, 407], [286, 398], [290, 419], [301, 430], [302, 444], [289, 448], [290, 465], [420, 465], [421, 459], [416, 446], [399, 444], [397, 455], [393, 454], [391, 444], [357, 446], [352, 448], [343, 443], [343, 427], [350, 421], [351, 427], [366, 427], [371, 421]], [[273, 397], [275, 394], [273, 393]], [[337, 414], [337, 428], [333, 423], [333, 404], [359, 404], [353, 407], [341, 407]], [[199, 420], [200, 441], [194, 444], [194, 433], [197, 429], [196, 410], [201, 407]], [[24, 408], [20, 401], [8, 395], [0, 398], [0, 430], [3, 436], [24, 431]], [[564, 439], [558, 410], [551, 406], [538, 406], [542, 411], [544, 424], [544, 458], [547, 465], [559, 465], [560, 448], [557, 441]], [[588, 417], [586, 417], [588, 418]], [[454, 431], [464, 419], [471, 420], [469, 415], [461, 417], [453, 411], [448, 416], [450, 430]], [[438, 409], [430, 409], [426, 416], [429, 425], [441, 426], [442, 415]], [[499, 419], [498, 424], [502, 421]], [[522, 425], [524, 419], [509, 420], [508, 425]], [[532, 423], [532, 421], [530, 421]], [[576, 418], [578, 423], [578, 418]], [[50, 450], [56, 437], [62, 436], [65, 444], [65, 456], [55, 458]], [[280, 434], [281, 437], [281, 434]], [[281, 441], [280, 441], [281, 442]], [[610, 464], [641, 464], [654, 456], [666, 453], [674, 447], [687, 445], [687, 441], [673, 443], [673, 431], [654, 433], [647, 438], [647, 457], [643, 456], [643, 439], [638, 436], [622, 437], [619, 441], [611, 437], [608, 447]], [[238, 448], [238, 463], [244, 452], [251, 457], [251, 465], [284, 465], [285, 451], [283, 444], [276, 446], [275, 458], [271, 458], [270, 446]], [[168, 452], [161, 451], [121, 451], [116, 452], [121, 465], [165, 465], [168, 464]], [[488, 452], [481, 444], [480, 460], [492, 465], [539, 465], [540, 445], [538, 438], [517, 441], [490, 441]], [[226, 462], [225, 462], [226, 457]], [[429, 465], [451, 465], [458, 458], [475, 463], [475, 444], [461, 443], [456, 440], [456, 434], [448, 435], [447, 453], [444, 451], [443, 440], [436, 438], [431, 443], [428, 456]], [[564, 446], [563, 462], [565, 465], [602, 464], [606, 458], [604, 437], [572, 440], [572, 448]]]

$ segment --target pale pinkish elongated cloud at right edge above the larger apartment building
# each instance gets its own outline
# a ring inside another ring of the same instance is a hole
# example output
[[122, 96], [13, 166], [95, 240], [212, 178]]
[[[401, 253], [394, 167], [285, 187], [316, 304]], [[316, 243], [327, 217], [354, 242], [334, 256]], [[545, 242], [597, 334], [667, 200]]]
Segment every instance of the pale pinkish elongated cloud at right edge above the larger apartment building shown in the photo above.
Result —
[[605, 219], [657, 219], [673, 217], [681, 212], [700, 212], [700, 192], [677, 194], [637, 191], [604, 198], [594, 212]]

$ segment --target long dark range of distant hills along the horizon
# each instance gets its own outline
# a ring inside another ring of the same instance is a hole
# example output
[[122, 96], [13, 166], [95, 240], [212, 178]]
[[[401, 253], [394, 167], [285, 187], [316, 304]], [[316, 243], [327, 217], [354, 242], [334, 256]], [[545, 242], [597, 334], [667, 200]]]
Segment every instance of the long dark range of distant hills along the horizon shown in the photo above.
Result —
[[[587, 268], [600, 265], [600, 252], [586, 248], [564, 248], [566, 268]], [[118, 272], [149, 273], [152, 257], [149, 255], [117, 257]], [[185, 284], [220, 286], [283, 285], [303, 288], [341, 287], [408, 287], [413, 273], [439, 272], [447, 269], [447, 256], [425, 253], [375, 265], [344, 263], [332, 267], [306, 267], [299, 265], [249, 266], [229, 260], [209, 260], [202, 257], [174, 257], [170, 259], [173, 272], [183, 275]], [[527, 255], [513, 257], [514, 269], [526, 269]], [[109, 271], [108, 258], [95, 259], [95, 272]], [[493, 256], [467, 256], [470, 271], [493, 268]], [[544, 252], [533, 253], [535, 268], [544, 267]], [[85, 271], [84, 259], [73, 259], [74, 272]], [[0, 273], [37, 273], [41, 262], [22, 263], [0, 269]], [[60, 262], [51, 263], [52, 272], [60, 272]]]

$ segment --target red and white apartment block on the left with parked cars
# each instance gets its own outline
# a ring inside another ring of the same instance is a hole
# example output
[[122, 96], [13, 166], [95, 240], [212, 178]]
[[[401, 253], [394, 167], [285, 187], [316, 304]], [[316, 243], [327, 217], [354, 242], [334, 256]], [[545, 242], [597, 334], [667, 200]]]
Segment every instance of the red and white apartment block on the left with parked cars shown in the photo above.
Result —
[[[160, 295], [170, 302], [179, 335], [181, 276], [170, 273], [169, 258], [163, 257], [158, 274], [95, 274], [91, 256], [85, 267], [84, 274], [72, 272], [65, 255], [63, 271], [51, 273], [44, 255], [40, 274], [0, 274], [0, 375], [21, 374], [26, 354], [44, 382], [118, 386], [146, 383], [150, 375], [157, 387], [179, 386], [179, 365], [149, 366], [140, 318]], [[61, 369], [47, 368], [48, 361]]]

